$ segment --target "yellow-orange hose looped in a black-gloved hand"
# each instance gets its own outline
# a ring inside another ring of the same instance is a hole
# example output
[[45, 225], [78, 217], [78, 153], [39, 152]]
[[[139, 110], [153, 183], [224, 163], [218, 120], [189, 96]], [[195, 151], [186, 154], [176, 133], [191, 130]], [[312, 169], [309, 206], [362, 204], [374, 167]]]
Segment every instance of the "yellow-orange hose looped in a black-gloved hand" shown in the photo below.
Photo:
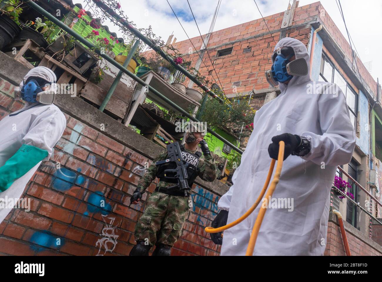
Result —
[[[274, 178], [272, 180], [272, 183], [270, 184], [270, 189], [268, 190], [267, 195], [265, 196], [266, 199], [268, 199], [269, 197], [272, 197], [272, 194], [275, 191], [276, 185], [277, 185], [277, 183], [278, 183], [278, 181], [280, 179], [281, 169], [283, 167], [285, 143], [283, 141], [280, 141], [278, 143], [278, 145], [279, 145], [279, 149], [278, 149], [276, 173], [275, 173], [275, 176], [274, 176]], [[259, 205], [261, 199], [264, 197], [264, 193], [265, 193], [265, 191], [268, 188], [268, 185], [269, 185], [269, 182], [270, 182], [270, 178], [272, 176], [273, 169], [275, 167], [275, 162], [276, 161], [274, 159], [271, 160], [269, 171], [268, 171], [268, 176], [267, 176], [267, 179], [265, 180], [263, 189], [261, 190], [260, 195], [257, 198], [257, 200], [255, 201], [255, 203], [253, 204], [253, 206], [251, 206], [251, 208], [248, 209], [248, 211], [246, 213], [244, 213], [240, 218], [236, 219], [235, 221], [231, 222], [230, 224], [227, 224], [225, 226], [221, 226], [221, 227], [218, 227], [218, 228], [206, 227], [204, 230], [207, 233], [222, 232], [224, 230], [227, 230], [227, 229], [235, 226], [236, 224], [239, 224], [244, 219], [248, 218], [249, 214], [251, 214], [256, 209], [257, 205]], [[252, 256], [252, 254], [253, 254], [253, 250], [255, 248], [257, 234], [259, 234], [260, 226], [261, 226], [262, 220], [264, 218], [265, 211], [266, 211], [266, 208], [261, 208], [260, 211], [259, 211], [259, 214], [257, 215], [255, 224], [253, 226], [251, 238], [249, 239], [246, 256]]]

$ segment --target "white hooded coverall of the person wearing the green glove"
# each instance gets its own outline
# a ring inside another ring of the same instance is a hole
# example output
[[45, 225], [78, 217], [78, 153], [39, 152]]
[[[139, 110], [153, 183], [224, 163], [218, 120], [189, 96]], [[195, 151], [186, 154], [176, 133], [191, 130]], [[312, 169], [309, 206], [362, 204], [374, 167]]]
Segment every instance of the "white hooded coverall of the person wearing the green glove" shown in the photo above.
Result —
[[[56, 76], [52, 70], [45, 67], [31, 69], [24, 77], [37, 76], [52, 83], [52, 89], [57, 89]], [[23, 82], [20, 84], [20, 88]], [[0, 167], [19, 150], [21, 145], [31, 145], [48, 152], [42, 161], [49, 160], [53, 147], [62, 136], [66, 127], [64, 114], [55, 105], [40, 103], [26, 103], [24, 108], [15, 111], [0, 121]], [[20, 198], [28, 181], [31, 179], [41, 161], [31, 168], [22, 177], [3, 192], [0, 192], [0, 201], [7, 198]], [[7, 204], [7, 203], [6, 203]], [[10, 208], [0, 208], [0, 223], [11, 211]]]

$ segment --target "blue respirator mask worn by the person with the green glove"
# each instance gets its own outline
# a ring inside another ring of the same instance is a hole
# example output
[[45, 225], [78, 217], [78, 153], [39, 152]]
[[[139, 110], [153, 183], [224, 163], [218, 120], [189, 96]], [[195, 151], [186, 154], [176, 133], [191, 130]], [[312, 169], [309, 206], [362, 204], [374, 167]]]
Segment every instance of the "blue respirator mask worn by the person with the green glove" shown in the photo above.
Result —
[[[43, 80], [30, 79], [19, 89], [18, 96], [28, 103], [53, 104], [55, 92], [51, 90], [52, 83]], [[41, 87], [49, 86], [49, 90], [42, 90]]]

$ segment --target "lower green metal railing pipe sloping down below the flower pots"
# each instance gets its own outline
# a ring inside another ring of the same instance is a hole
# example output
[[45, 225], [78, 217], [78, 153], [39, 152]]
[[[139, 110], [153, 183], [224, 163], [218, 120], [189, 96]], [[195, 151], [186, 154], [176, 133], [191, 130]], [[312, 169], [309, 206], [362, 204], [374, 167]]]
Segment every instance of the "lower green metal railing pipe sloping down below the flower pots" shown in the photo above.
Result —
[[[39, 13], [41, 13], [42, 15], [46, 16], [50, 21], [52, 21], [53, 23], [55, 23], [57, 26], [61, 27], [64, 31], [68, 32], [68, 34], [72, 35], [73, 37], [75, 37], [76, 39], [78, 39], [81, 43], [83, 43], [84, 45], [86, 45], [87, 47], [89, 48], [95, 48], [94, 44], [90, 43], [89, 41], [87, 41], [86, 39], [84, 39], [81, 35], [79, 35], [77, 32], [73, 31], [72, 29], [70, 29], [70, 27], [66, 26], [64, 23], [62, 23], [61, 21], [59, 21], [57, 18], [55, 18], [54, 16], [50, 15], [49, 12], [45, 11], [43, 8], [41, 8], [39, 5], [37, 5], [36, 3], [34, 3], [32, 0], [27, 0], [26, 3], [31, 6], [32, 8], [34, 8], [36, 11], [38, 11]], [[165, 97], [162, 93], [158, 92], [157, 90], [155, 90], [152, 86], [150, 86], [149, 84], [147, 84], [146, 82], [142, 81], [142, 79], [140, 79], [139, 77], [137, 77], [135, 74], [131, 73], [128, 69], [126, 69], [125, 67], [121, 66], [121, 64], [119, 64], [117, 61], [113, 60], [112, 58], [110, 58], [110, 56], [106, 55], [106, 54], [102, 54], [100, 52], [100, 50], [96, 49], [95, 52], [97, 52], [97, 54], [99, 54], [102, 58], [105, 58], [105, 60], [107, 60], [108, 62], [110, 62], [111, 64], [113, 64], [113, 66], [116, 66], [118, 69], [120, 69], [121, 71], [123, 71], [125, 74], [127, 74], [129, 77], [131, 77], [132, 79], [134, 79], [136, 82], [138, 82], [139, 84], [143, 85], [143, 86], [147, 86], [155, 95], [159, 96], [160, 98], [162, 98], [165, 102], [167, 102], [169, 105], [173, 106], [176, 110], [180, 111], [180, 113], [184, 114], [187, 118], [191, 119], [192, 121], [199, 121], [197, 120], [196, 118], [194, 118], [193, 116], [191, 116], [189, 113], [187, 113], [185, 110], [183, 110], [180, 106], [176, 105], [174, 102], [172, 102], [170, 99], [168, 99], [167, 97]], [[240, 150], [239, 148], [237, 148], [235, 145], [233, 145], [231, 142], [225, 140], [223, 137], [221, 137], [219, 134], [217, 134], [216, 132], [212, 131], [209, 127], [207, 127], [207, 131], [210, 132], [212, 135], [214, 135], [215, 137], [217, 137], [219, 140], [222, 140], [224, 143], [226, 143], [227, 145], [229, 145], [231, 148], [233, 148], [235, 151], [239, 152], [239, 153], [243, 153], [242, 150]]]

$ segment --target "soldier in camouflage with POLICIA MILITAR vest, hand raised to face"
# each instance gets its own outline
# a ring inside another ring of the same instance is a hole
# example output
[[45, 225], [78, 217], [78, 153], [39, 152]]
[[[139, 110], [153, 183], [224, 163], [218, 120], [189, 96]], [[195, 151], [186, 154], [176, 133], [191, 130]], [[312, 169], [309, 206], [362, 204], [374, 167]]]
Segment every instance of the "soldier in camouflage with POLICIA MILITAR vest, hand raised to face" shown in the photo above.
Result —
[[[203, 140], [201, 132], [187, 132], [184, 147], [180, 145], [183, 163], [188, 172], [188, 185], [192, 187], [194, 179], [212, 182], [216, 178], [215, 160], [208, 149], [207, 142]], [[197, 150], [200, 143], [203, 156]], [[168, 190], [175, 181], [164, 177], [164, 169], [173, 168], [173, 162], [155, 165], [155, 162], [167, 159], [167, 151], [154, 159], [144, 176], [139, 180], [137, 189], [130, 199], [136, 204], [142, 198], [142, 193], [158, 177], [160, 179], [155, 191], [147, 199], [146, 208], [135, 227], [135, 240], [130, 256], [148, 256], [151, 247], [156, 245], [153, 256], [169, 256], [171, 247], [181, 235], [183, 224], [192, 207], [190, 193], [187, 197], [180, 189]], [[168, 166], [170, 165], [170, 166]]]

